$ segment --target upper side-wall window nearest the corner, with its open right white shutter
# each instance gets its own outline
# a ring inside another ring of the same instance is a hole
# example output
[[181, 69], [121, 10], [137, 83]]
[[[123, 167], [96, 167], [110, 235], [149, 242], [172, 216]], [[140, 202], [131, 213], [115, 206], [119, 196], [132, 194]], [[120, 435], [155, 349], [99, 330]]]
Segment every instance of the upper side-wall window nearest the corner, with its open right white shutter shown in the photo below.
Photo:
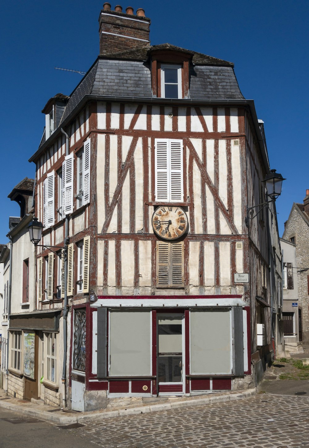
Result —
[[90, 202], [90, 138], [77, 155], [76, 207]]

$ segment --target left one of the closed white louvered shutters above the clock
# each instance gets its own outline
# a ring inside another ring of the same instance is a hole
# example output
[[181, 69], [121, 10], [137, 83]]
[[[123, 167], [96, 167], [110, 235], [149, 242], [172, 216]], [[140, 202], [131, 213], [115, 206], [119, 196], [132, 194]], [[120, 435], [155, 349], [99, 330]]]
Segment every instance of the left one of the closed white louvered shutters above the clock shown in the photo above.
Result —
[[169, 200], [168, 139], [154, 139], [155, 200]]

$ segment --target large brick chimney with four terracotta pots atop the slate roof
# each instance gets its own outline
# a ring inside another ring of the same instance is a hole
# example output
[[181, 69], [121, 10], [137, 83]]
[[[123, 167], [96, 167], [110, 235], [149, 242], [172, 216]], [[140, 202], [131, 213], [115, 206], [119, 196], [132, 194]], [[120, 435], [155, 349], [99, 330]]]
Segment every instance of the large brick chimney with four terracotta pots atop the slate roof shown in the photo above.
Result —
[[131, 6], [125, 11], [122, 12], [120, 5], [111, 11], [109, 3], [103, 4], [99, 17], [100, 54], [123, 52], [150, 44], [150, 19], [145, 17], [145, 11], [137, 9], [134, 15]]

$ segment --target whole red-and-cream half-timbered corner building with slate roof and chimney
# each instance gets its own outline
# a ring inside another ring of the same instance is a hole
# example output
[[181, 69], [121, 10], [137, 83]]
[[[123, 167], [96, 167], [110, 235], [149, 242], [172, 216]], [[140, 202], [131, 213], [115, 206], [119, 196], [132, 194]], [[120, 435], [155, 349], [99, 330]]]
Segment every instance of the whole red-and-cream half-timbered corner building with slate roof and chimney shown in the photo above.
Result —
[[76, 410], [253, 387], [273, 352], [269, 220], [245, 222], [266, 201], [263, 125], [231, 62], [151, 46], [149, 26], [104, 4], [100, 55], [48, 101], [30, 158], [41, 244], [59, 248], [37, 247], [54, 324], [37, 396]]

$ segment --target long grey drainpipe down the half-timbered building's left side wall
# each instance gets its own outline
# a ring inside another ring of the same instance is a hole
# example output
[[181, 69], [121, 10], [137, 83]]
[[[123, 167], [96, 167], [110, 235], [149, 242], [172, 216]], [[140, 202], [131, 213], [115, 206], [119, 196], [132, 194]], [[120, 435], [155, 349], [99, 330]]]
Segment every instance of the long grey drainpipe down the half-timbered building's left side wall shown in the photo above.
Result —
[[[65, 135], [65, 155], [69, 155], [69, 135], [61, 128]], [[67, 316], [68, 316], [68, 244], [69, 244], [69, 216], [65, 215], [64, 230], [64, 306], [63, 306], [63, 366], [62, 366], [62, 407], [67, 406], [66, 400], [66, 362], [67, 362]]]

